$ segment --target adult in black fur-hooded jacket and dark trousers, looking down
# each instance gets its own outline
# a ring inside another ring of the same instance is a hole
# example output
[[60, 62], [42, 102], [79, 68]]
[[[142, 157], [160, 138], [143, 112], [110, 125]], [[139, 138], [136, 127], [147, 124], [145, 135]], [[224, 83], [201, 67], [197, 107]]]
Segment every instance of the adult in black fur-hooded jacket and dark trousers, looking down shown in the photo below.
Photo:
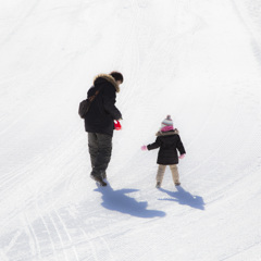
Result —
[[107, 177], [105, 171], [111, 160], [114, 120], [122, 120], [122, 113], [115, 107], [116, 92], [120, 92], [122, 83], [123, 76], [119, 72], [100, 74], [87, 94], [89, 98], [99, 90], [85, 117], [92, 167], [90, 176], [99, 182]]

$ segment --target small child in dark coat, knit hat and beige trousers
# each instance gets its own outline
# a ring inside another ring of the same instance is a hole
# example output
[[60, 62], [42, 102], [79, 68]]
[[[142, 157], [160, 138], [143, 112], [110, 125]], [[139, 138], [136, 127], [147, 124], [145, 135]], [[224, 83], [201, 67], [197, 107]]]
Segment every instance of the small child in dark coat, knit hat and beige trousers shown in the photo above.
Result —
[[[175, 186], [179, 186], [179, 174], [177, 170], [178, 159], [183, 159], [186, 154], [183, 142], [178, 135], [178, 130], [173, 127], [173, 121], [170, 115], [161, 123], [160, 130], [156, 134], [157, 139], [153, 144], [142, 146], [141, 150], [152, 150], [160, 148], [157, 163], [159, 164], [156, 176], [156, 187], [161, 187], [166, 165], [170, 165], [172, 178]], [[179, 157], [177, 156], [177, 150]]]

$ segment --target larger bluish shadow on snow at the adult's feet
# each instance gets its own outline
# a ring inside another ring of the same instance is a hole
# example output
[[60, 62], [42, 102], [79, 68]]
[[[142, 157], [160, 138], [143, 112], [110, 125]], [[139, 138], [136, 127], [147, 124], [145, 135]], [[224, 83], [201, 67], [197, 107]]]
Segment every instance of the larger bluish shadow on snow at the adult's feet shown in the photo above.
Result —
[[165, 212], [159, 210], [148, 210], [148, 202], [138, 202], [136, 199], [128, 197], [126, 194], [138, 191], [138, 189], [119, 189], [113, 188], [108, 183], [107, 187], [99, 187], [95, 189], [102, 194], [103, 202], [101, 206], [111, 211], [119, 211], [125, 214], [150, 219], [150, 217], [163, 217]]

